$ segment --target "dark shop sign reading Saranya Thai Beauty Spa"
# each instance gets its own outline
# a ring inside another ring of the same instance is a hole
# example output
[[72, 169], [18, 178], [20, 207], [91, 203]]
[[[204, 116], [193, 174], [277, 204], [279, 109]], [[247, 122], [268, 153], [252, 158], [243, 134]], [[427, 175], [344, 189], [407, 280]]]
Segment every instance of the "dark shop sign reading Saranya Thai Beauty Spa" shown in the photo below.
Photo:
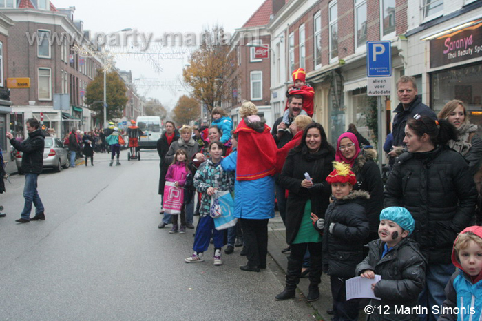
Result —
[[430, 68], [482, 56], [482, 23], [430, 41]]

